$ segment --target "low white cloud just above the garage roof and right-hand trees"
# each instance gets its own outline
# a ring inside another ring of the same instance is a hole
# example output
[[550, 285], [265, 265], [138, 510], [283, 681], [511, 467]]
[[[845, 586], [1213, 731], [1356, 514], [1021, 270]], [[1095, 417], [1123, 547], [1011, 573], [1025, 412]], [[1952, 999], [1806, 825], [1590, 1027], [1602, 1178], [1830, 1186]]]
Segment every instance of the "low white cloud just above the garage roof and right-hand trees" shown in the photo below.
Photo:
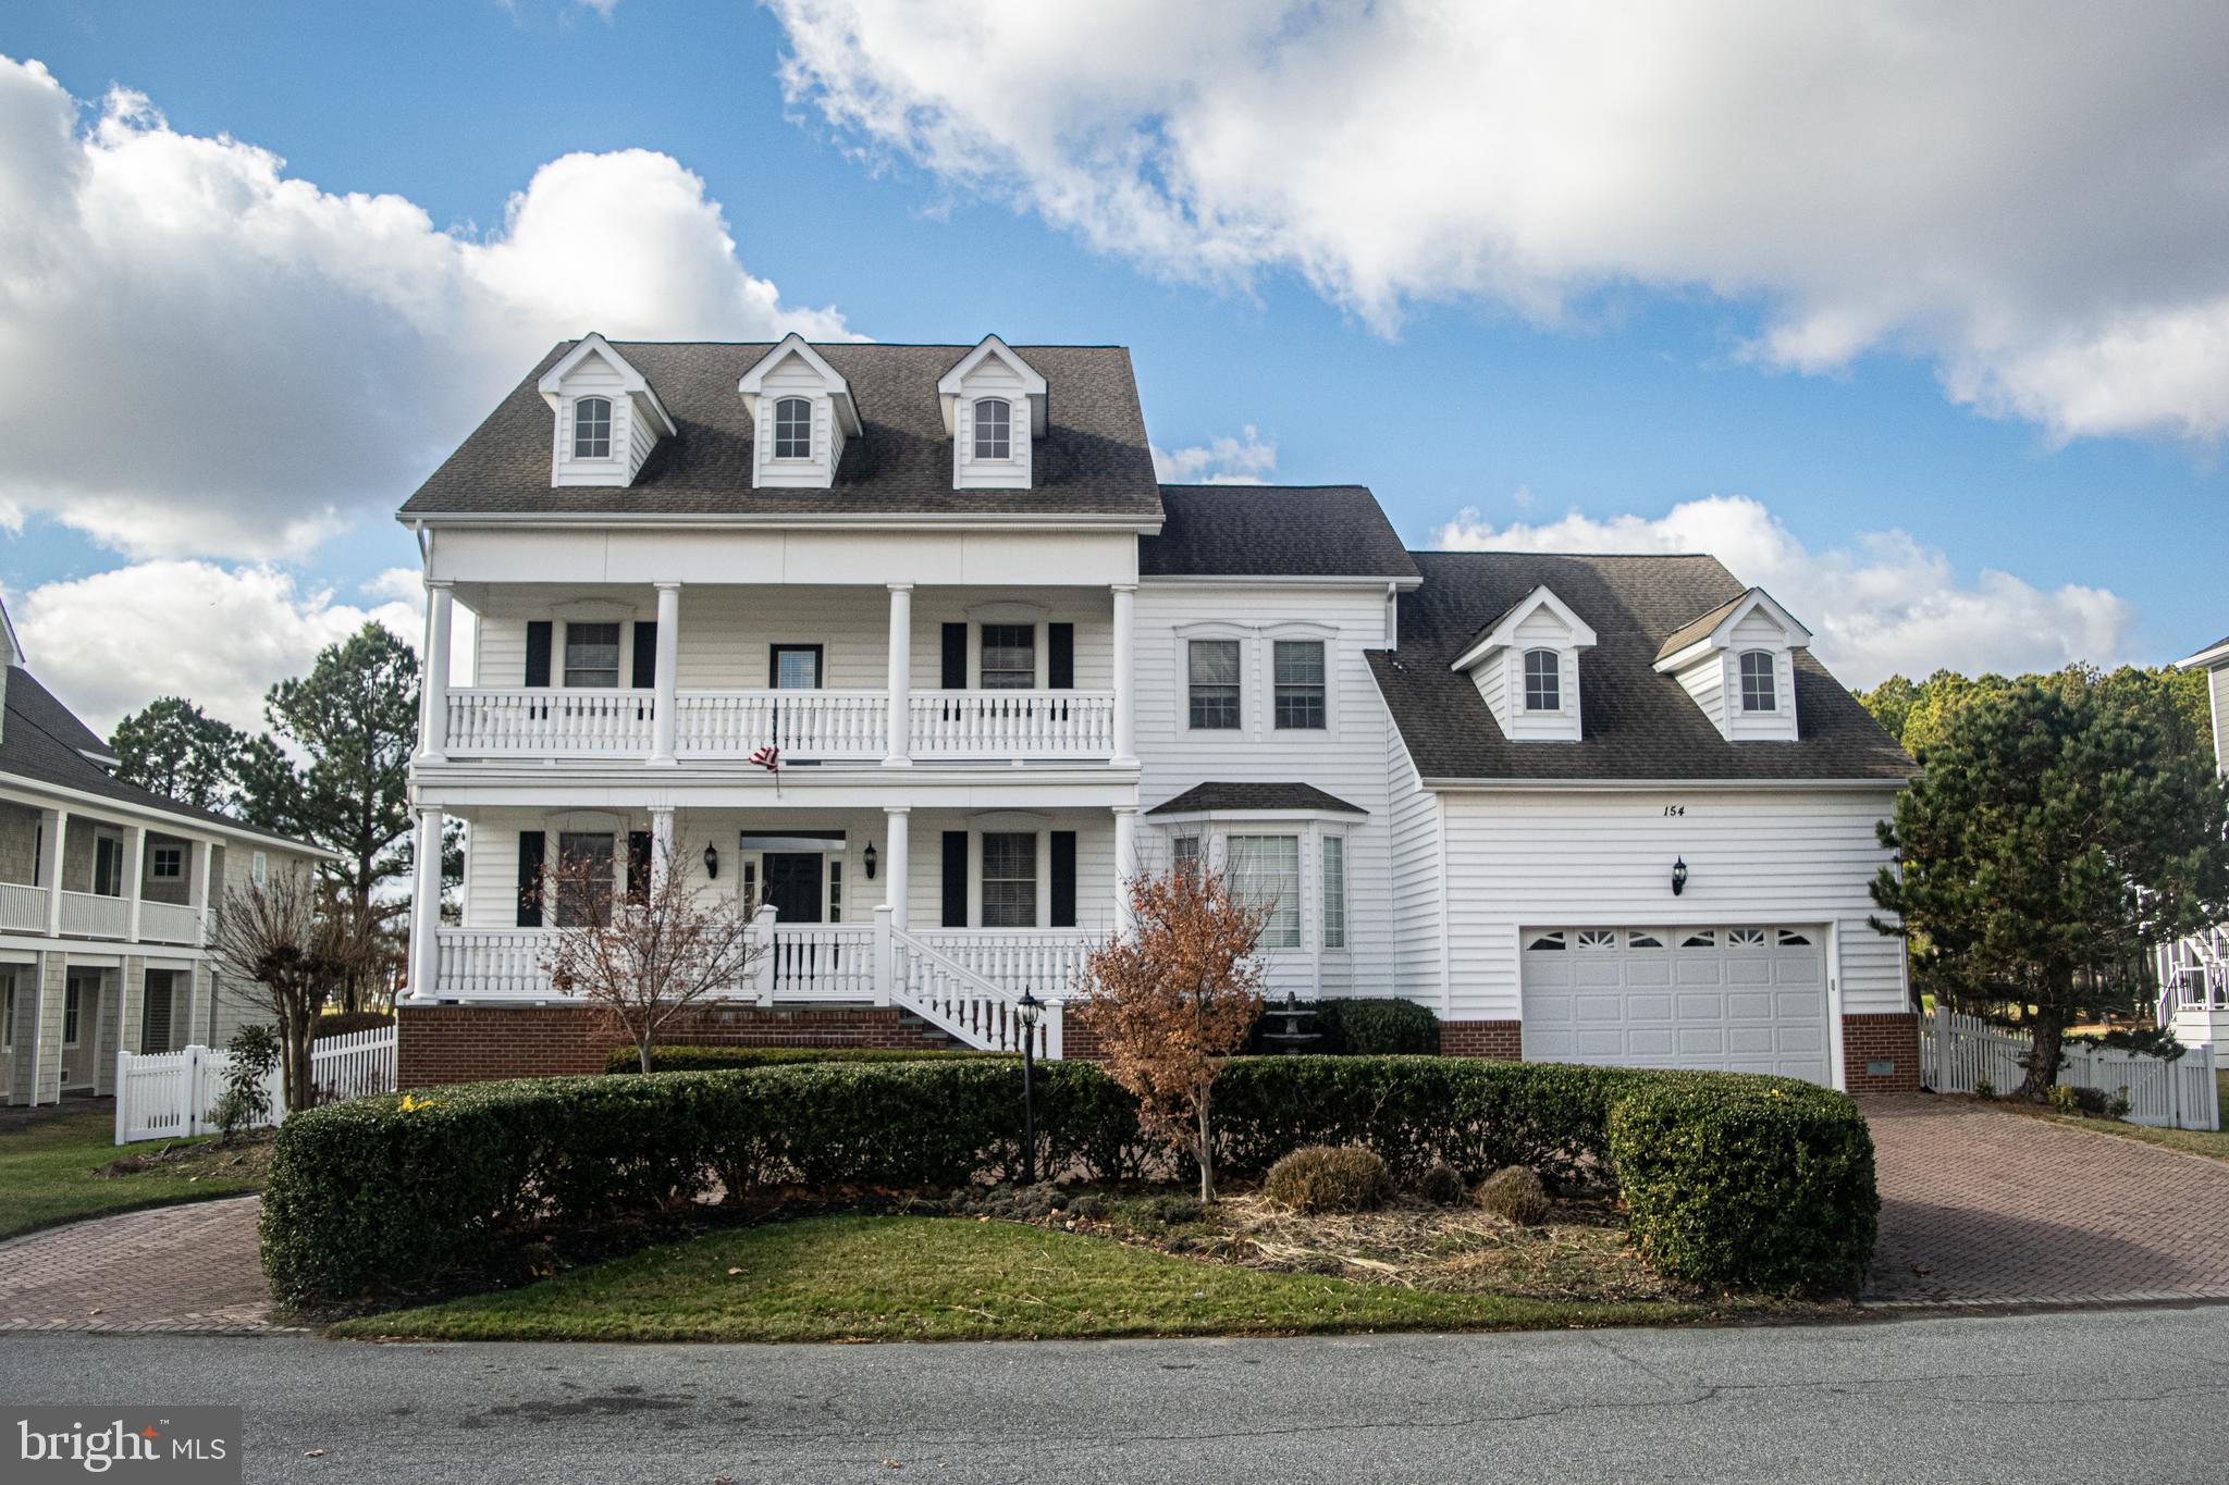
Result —
[[2131, 652], [2129, 601], [2104, 588], [2035, 588], [2011, 572], [1964, 581], [1941, 548], [1899, 530], [1814, 552], [1759, 501], [1712, 494], [1661, 517], [1583, 517], [1493, 528], [1464, 510], [1433, 545], [1487, 552], [1710, 552], [1765, 588], [1810, 630], [1812, 650], [1846, 686], [1948, 666], [2057, 670]]

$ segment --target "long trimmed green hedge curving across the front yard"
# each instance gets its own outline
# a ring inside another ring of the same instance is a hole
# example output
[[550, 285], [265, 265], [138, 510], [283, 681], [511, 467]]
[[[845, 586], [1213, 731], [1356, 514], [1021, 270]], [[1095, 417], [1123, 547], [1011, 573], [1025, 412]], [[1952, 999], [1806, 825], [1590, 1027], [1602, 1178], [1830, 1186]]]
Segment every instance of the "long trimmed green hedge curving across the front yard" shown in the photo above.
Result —
[[[1092, 1062], [1036, 1071], [1039, 1169], [1123, 1180], [1166, 1153]], [[816, 1060], [542, 1078], [363, 1098], [279, 1129], [263, 1267], [328, 1307], [506, 1260], [537, 1231], [655, 1211], [722, 1182], [943, 1191], [1021, 1164], [1014, 1058]], [[1703, 1285], [1819, 1289], [1872, 1251], [1872, 1142], [1826, 1089], [1456, 1058], [1235, 1058], [1215, 1084], [1221, 1167], [1366, 1144], [1395, 1180], [1527, 1164], [1614, 1178], [1643, 1251]]]

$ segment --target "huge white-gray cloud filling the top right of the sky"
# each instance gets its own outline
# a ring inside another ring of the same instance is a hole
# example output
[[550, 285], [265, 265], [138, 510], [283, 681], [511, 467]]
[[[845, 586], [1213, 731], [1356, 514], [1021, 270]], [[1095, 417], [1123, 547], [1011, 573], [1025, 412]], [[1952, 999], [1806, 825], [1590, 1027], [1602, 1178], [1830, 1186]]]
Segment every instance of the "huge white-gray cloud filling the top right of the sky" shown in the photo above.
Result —
[[2053, 436], [2229, 434], [2229, 7], [769, 0], [785, 85], [1170, 276], [1391, 330], [1623, 285]]

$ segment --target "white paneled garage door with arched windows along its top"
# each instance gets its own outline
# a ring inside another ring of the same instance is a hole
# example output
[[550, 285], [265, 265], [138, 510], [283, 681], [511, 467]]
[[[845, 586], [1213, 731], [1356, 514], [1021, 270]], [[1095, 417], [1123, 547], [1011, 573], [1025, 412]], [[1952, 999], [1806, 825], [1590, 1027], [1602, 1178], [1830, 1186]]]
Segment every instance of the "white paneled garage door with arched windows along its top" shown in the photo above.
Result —
[[1832, 1084], [1826, 931], [1527, 928], [1525, 1058]]

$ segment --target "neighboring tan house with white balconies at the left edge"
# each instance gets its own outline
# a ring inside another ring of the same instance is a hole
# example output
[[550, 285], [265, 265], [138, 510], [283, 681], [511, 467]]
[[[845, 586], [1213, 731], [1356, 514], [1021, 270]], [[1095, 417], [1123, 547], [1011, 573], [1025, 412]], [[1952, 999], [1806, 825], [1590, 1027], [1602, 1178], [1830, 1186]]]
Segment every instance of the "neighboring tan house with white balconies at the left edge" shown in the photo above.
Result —
[[0, 1095], [114, 1093], [116, 1053], [218, 1044], [210, 908], [314, 846], [114, 777], [109, 746], [25, 670], [0, 608]]

